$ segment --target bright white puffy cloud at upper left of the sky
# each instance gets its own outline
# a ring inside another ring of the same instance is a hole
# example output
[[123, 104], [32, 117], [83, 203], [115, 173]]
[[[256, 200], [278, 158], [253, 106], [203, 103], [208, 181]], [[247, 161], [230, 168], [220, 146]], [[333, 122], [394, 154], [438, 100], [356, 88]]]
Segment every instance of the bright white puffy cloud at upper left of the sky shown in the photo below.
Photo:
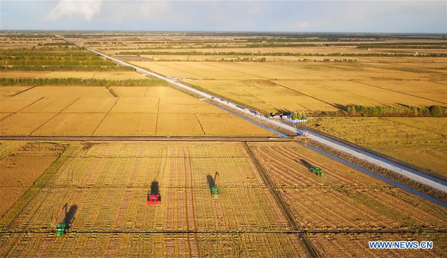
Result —
[[101, 10], [101, 1], [61, 0], [48, 13], [47, 19], [56, 21], [63, 16], [80, 16], [84, 20], [91, 20]]

